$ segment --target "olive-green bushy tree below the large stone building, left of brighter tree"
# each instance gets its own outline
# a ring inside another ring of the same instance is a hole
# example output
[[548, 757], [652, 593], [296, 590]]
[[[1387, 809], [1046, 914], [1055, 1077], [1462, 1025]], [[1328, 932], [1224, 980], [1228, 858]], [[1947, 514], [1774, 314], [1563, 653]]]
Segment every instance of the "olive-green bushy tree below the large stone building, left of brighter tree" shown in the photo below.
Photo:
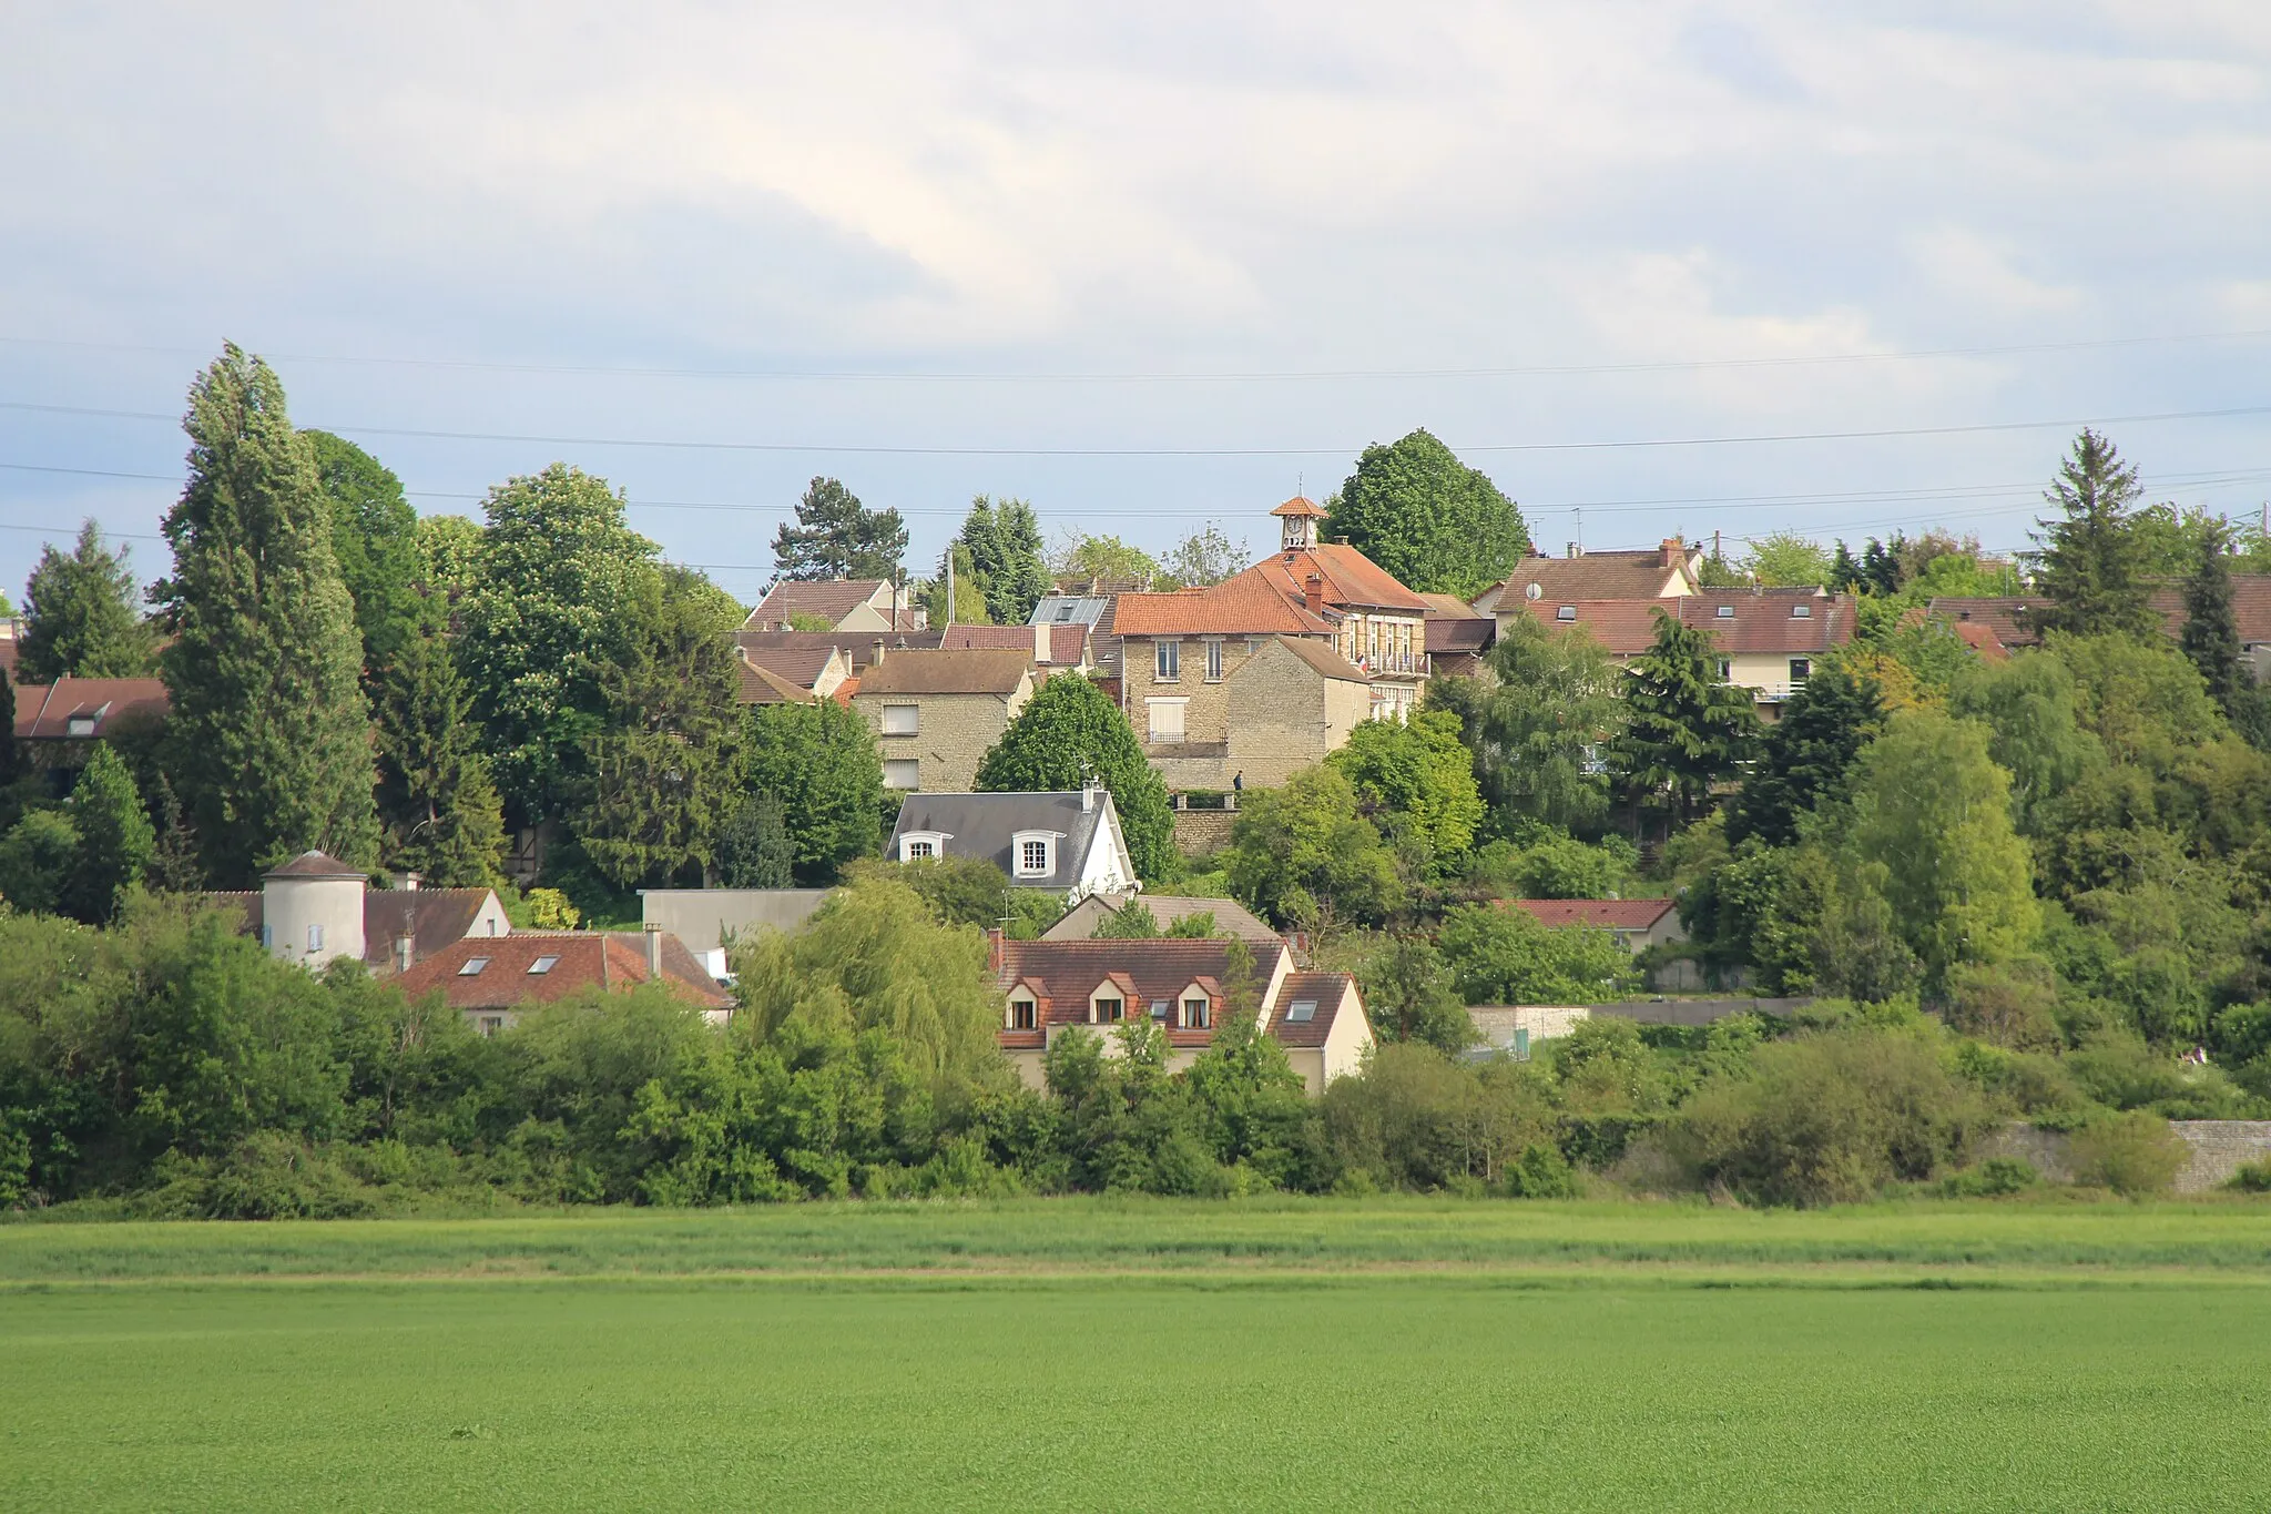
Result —
[[1403, 903], [1394, 853], [1331, 767], [1247, 794], [1224, 872], [1242, 903], [1279, 924], [1378, 924]]

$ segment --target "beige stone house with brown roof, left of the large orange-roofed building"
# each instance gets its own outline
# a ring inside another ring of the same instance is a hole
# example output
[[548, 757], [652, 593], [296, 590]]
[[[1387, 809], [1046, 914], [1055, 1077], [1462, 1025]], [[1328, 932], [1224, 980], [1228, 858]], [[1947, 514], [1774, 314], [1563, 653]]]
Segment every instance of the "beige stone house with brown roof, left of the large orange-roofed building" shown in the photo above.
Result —
[[1031, 697], [1029, 651], [890, 651], [879, 642], [852, 708], [877, 735], [886, 788], [963, 794]]

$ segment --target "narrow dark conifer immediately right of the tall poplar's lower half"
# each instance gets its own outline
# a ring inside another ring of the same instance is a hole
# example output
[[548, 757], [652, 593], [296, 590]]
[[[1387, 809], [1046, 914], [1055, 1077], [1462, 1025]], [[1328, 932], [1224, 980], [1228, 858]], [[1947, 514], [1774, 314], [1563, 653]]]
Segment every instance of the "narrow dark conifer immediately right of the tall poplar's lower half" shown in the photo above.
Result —
[[400, 642], [379, 681], [379, 819], [386, 860], [436, 888], [504, 883], [504, 808], [479, 738], [450, 642]]

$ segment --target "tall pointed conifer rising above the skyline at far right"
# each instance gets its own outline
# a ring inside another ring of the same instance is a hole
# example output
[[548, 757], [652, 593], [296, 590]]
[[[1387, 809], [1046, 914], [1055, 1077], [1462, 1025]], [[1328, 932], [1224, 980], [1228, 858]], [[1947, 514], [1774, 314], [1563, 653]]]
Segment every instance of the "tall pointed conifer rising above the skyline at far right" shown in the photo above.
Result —
[[2071, 631], [2103, 636], [2121, 631], [2151, 636], [2160, 617], [2146, 602], [2153, 586], [2137, 563], [2137, 495], [2135, 463], [2123, 463], [2114, 445], [2085, 429], [2058, 465], [2058, 479], [2044, 499], [2060, 508], [2060, 520], [2037, 520], [2048, 536], [2037, 536], [2037, 583], [2048, 599], [2033, 611], [2037, 631]]

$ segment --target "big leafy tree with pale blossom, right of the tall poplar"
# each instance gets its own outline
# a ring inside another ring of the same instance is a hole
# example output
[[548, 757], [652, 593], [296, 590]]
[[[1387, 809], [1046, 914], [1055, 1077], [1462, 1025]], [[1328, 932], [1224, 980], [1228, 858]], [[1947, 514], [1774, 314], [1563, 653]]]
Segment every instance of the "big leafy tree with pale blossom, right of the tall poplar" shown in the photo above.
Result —
[[484, 511], [454, 651], [491, 776], [536, 824], [588, 779], [590, 740], [613, 724], [609, 676], [638, 656], [625, 611], [652, 604], [654, 542], [625, 524], [622, 495], [565, 463], [491, 488]]

